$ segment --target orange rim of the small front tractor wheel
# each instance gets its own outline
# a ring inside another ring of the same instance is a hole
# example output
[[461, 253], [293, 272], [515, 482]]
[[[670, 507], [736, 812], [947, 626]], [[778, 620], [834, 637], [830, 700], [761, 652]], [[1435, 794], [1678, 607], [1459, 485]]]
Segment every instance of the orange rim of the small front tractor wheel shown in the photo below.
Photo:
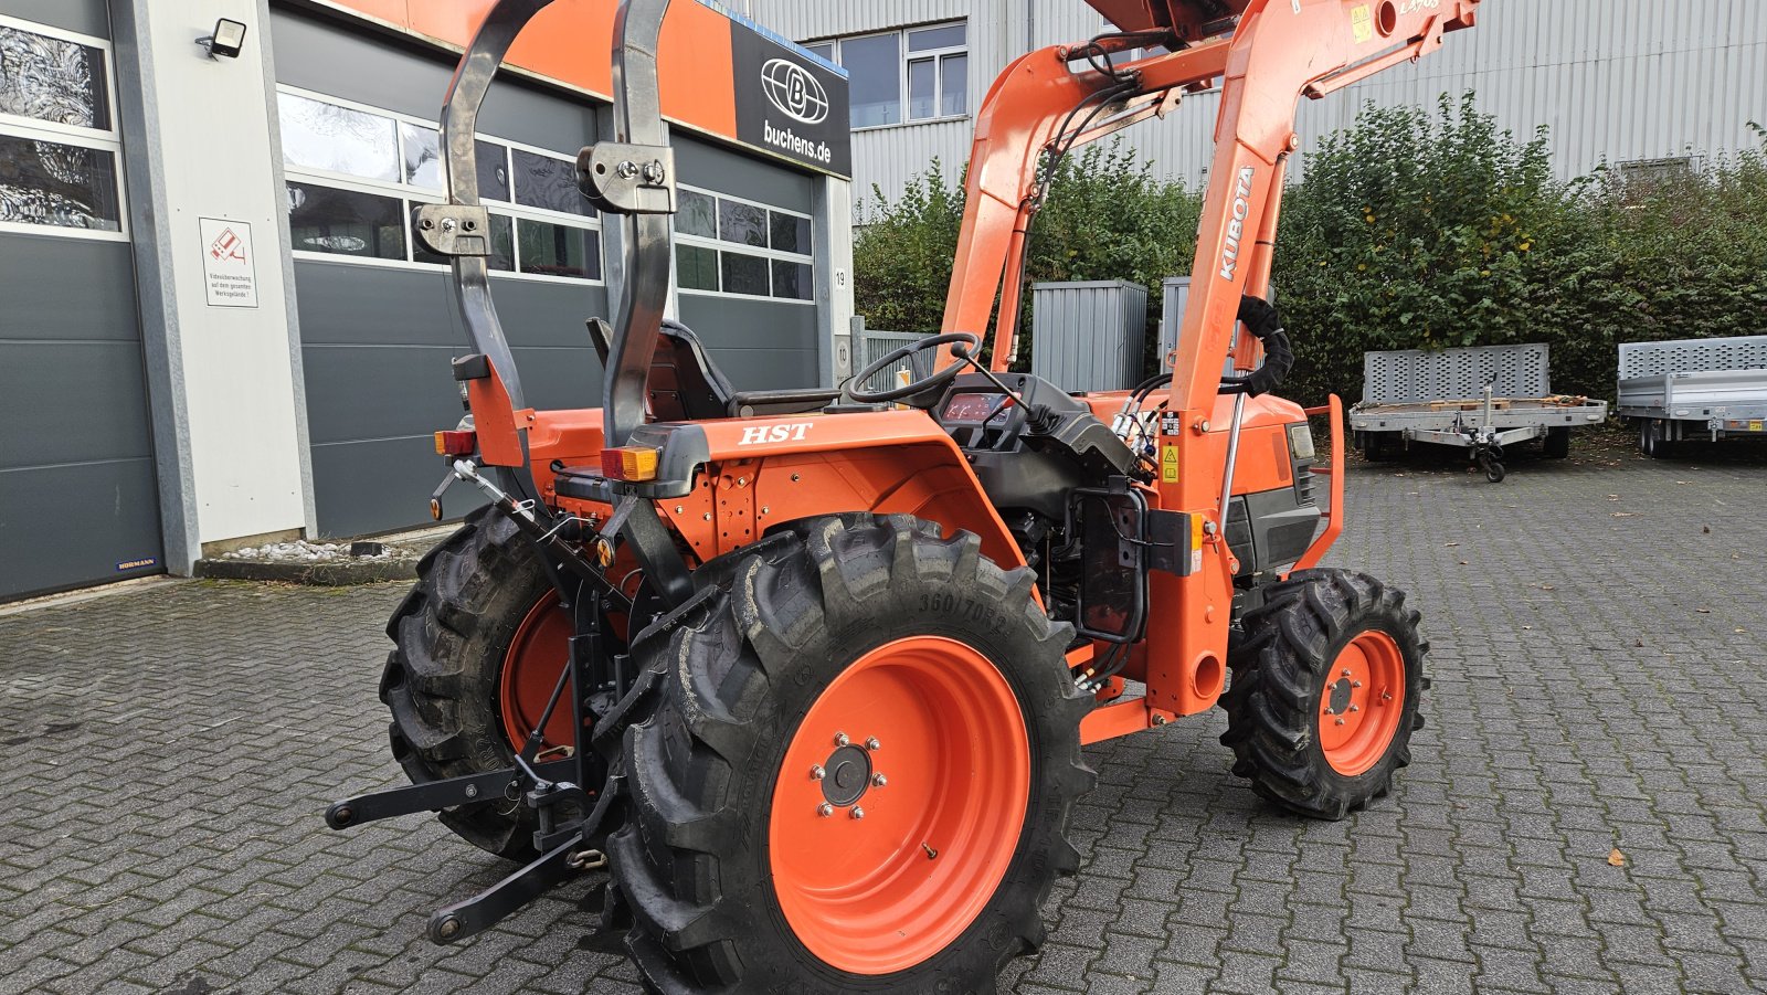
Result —
[[1357, 633], [1320, 689], [1320, 748], [1346, 778], [1380, 762], [1405, 712], [1405, 656], [1387, 633]]

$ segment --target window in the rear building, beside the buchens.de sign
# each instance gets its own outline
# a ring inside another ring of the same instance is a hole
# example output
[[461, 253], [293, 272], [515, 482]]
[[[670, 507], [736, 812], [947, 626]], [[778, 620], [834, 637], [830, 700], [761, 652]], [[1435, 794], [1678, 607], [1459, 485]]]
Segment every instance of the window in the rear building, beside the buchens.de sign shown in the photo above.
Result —
[[846, 69], [853, 127], [970, 113], [968, 23], [806, 42]]

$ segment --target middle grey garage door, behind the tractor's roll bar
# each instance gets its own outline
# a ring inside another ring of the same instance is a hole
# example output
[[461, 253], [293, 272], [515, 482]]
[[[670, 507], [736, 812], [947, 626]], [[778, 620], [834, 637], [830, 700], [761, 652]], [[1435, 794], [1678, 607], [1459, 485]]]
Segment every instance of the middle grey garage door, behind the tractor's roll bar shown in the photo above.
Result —
[[[431, 433], [461, 417], [449, 361], [468, 345], [447, 269], [408, 217], [442, 198], [435, 120], [452, 64], [290, 12], [272, 30], [320, 530], [426, 523], [442, 479]], [[583, 320], [608, 313], [601, 219], [573, 180], [595, 125], [594, 108], [509, 83], [479, 118], [493, 292], [542, 408], [599, 405]], [[451, 516], [470, 507], [456, 488]]]

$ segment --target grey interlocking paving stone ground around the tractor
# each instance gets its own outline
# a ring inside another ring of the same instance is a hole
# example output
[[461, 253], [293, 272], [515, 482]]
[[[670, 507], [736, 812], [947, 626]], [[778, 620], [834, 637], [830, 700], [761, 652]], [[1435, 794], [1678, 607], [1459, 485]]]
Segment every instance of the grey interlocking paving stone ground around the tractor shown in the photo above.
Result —
[[[1394, 795], [1274, 813], [1219, 712], [1088, 749], [1085, 866], [1002, 988], [1767, 990], [1762, 463], [1359, 467], [1332, 562], [1407, 589], [1435, 643]], [[0, 993], [634, 991], [594, 880], [438, 949], [429, 910], [504, 866], [431, 818], [323, 827], [399, 783], [375, 682], [401, 594], [0, 617]]]

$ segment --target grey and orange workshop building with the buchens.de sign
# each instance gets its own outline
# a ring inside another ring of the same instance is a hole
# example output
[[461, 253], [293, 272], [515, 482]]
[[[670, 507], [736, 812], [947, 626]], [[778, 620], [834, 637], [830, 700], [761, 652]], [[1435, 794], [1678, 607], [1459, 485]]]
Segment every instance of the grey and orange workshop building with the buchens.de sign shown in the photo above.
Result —
[[[410, 212], [442, 198], [436, 115], [488, 7], [0, 0], [0, 599], [428, 521], [466, 338]], [[541, 406], [601, 403], [583, 322], [617, 299], [620, 226], [573, 161], [611, 138], [613, 12], [544, 11], [479, 120], [493, 288]], [[781, 58], [815, 108], [781, 110]], [[663, 74], [675, 316], [740, 387], [830, 380], [845, 76], [694, 2]]]

